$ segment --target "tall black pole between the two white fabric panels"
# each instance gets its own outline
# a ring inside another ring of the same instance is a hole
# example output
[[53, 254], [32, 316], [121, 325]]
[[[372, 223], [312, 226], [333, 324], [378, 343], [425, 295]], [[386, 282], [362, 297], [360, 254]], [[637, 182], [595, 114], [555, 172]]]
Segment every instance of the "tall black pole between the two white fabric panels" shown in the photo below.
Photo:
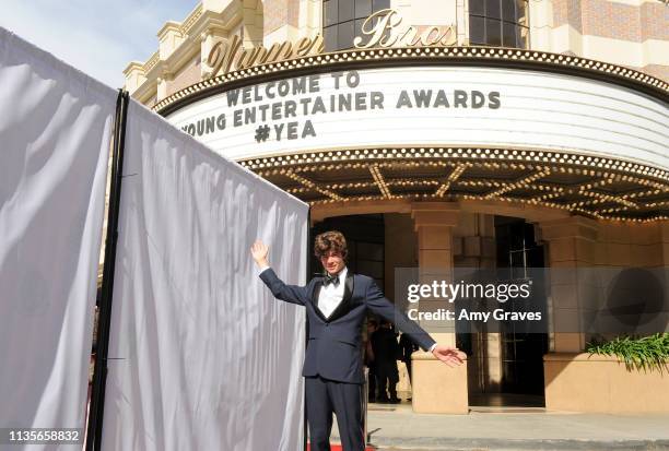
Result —
[[107, 235], [105, 237], [105, 260], [103, 265], [102, 298], [99, 300], [98, 310], [93, 391], [89, 411], [89, 427], [86, 429], [86, 451], [97, 451], [101, 449], [102, 444], [105, 388], [107, 380], [107, 353], [109, 351], [109, 327], [111, 323], [111, 297], [114, 295], [114, 269], [116, 265], [116, 242], [118, 239], [118, 215], [120, 210], [124, 149], [126, 145], [126, 123], [129, 99], [128, 92], [119, 90], [116, 100], [116, 116], [114, 119], [111, 185], [109, 188], [109, 210], [107, 212]]

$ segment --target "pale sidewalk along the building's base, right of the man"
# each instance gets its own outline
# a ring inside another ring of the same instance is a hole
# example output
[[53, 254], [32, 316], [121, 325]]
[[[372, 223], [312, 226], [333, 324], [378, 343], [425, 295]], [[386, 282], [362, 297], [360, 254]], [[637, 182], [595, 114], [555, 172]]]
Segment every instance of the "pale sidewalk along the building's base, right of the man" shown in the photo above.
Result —
[[[547, 413], [540, 407], [427, 415], [414, 414], [403, 402], [371, 404], [367, 422], [371, 443], [380, 450], [669, 450], [669, 415]], [[338, 434], [333, 426], [333, 438]]]

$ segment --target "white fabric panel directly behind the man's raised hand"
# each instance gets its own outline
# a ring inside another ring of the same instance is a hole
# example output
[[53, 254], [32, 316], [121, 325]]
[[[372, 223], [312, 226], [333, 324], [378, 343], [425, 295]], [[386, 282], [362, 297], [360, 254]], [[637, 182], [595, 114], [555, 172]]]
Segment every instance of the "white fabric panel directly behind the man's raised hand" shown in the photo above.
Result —
[[307, 205], [134, 102], [125, 158], [103, 449], [300, 450], [304, 310], [249, 248], [304, 283]]

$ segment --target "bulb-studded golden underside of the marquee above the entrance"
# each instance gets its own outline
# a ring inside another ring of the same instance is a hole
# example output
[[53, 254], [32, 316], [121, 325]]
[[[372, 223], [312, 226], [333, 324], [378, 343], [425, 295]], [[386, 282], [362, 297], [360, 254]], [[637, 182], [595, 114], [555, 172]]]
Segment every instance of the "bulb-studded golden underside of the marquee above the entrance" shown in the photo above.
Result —
[[669, 218], [669, 175], [631, 162], [527, 150], [362, 149], [239, 162], [297, 198], [498, 200], [596, 218]]

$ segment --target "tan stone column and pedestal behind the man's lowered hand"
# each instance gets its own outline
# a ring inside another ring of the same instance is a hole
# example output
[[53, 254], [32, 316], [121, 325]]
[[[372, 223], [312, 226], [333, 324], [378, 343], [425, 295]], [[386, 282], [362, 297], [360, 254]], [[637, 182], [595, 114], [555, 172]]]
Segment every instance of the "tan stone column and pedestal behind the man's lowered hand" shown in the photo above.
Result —
[[[451, 274], [453, 228], [459, 207], [450, 202], [416, 202], [411, 217], [418, 234], [418, 261], [421, 282], [435, 275]], [[424, 278], [423, 278], [424, 277]], [[421, 308], [423, 310], [423, 308]], [[441, 345], [455, 346], [455, 324], [432, 322], [431, 335]], [[435, 332], [437, 331], [437, 332]], [[431, 353], [413, 354], [413, 411], [416, 413], [466, 414], [469, 411], [467, 364], [450, 368]]]

